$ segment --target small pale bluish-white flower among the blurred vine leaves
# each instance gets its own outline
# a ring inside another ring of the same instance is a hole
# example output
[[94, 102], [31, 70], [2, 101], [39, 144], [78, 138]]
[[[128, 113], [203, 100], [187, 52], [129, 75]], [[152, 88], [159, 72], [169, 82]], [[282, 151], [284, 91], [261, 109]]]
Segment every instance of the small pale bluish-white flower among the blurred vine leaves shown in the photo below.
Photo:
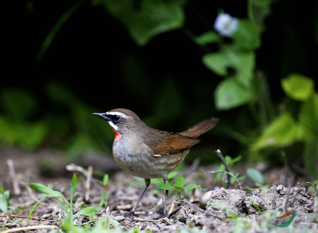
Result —
[[214, 22], [214, 29], [222, 36], [232, 36], [238, 26], [238, 19], [226, 13], [218, 14]]

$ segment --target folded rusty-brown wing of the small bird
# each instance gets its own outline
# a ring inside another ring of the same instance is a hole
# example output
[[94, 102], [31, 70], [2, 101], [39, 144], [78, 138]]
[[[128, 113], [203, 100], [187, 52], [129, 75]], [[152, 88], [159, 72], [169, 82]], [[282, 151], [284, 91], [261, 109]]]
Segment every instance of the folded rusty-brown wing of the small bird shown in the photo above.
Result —
[[146, 138], [145, 143], [153, 150], [154, 154], [165, 154], [173, 153], [191, 146], [200, 142], [196, 138], [190, 138], [182, 136], [178, 133], [170, 133], [166, 131], [154, 130], [153, 135], [157, 135], [154, 138]]

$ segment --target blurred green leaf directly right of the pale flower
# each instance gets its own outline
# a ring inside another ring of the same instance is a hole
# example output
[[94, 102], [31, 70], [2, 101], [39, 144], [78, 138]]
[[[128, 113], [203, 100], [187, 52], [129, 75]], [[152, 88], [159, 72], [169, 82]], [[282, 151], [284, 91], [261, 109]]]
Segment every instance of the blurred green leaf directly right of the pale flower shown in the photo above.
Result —
[[254, 50], [261, 44], [256, 26], [246, 19], [239, 19], [239, 27], [232, 38], [244, 49]]

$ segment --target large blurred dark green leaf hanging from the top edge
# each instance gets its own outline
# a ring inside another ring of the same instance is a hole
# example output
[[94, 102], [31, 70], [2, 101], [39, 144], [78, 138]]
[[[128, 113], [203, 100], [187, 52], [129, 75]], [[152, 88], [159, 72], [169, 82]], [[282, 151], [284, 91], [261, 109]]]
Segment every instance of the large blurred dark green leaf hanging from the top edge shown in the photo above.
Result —
[[183, 26], [182, 1], [100, 0], [119, 19], [135, 42], [143, 46], [154, 36]]

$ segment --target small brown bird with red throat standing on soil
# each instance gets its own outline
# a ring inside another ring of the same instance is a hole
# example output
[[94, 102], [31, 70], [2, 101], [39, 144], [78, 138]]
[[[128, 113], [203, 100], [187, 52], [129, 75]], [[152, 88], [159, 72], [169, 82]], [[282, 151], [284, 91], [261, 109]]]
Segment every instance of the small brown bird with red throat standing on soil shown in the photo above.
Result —
[[[190, 147], [200, 142], [197, 137], [218, 122], [217, 118], [209, 118], [186, 131], [174, 133], [148, 127], [128, 109], [113, 109], [93, 115], [103, 118], [115, 133], [115, 162], [129, 174], [145, 179], [146, 187], [128, 214], [132, 219], [142, 195], [150, 185], [150, 179], [161, 177], [164, 183], [167, 183], [168, 174], [182, 162]], [[167, 199], [168, 190], [162, 218], [167, 216]]]

